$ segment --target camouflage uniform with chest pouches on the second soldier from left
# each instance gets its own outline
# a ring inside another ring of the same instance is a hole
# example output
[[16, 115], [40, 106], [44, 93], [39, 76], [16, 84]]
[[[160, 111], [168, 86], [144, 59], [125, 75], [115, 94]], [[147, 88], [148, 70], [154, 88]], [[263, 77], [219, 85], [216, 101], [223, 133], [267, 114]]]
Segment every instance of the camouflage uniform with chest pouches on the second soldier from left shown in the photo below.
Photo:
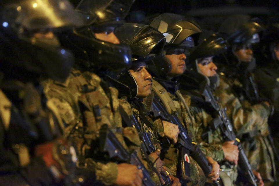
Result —
[[[74, 69], [64, 83], [49, 79], [43, 85], [47, 98], [53, 100], [67, 124], [65, 135], [73, 137], [77, 143], [80, 164], [94, 169], [96, 179], [102, 183], [115, 183], [117, 164], [95, 160], [90, 155], [96, 154], [91, 147], [99, 137], [99, 129], [103, 124], [108, 124], [126, 149], [140, 149], [140, 139], [135, 128], [122, 128], [117, 89], [109, 87], [94, 73]], [[133, 145], [127, 147], [124, 137]], [[141, 158], [139, 150], [137, 154]]]

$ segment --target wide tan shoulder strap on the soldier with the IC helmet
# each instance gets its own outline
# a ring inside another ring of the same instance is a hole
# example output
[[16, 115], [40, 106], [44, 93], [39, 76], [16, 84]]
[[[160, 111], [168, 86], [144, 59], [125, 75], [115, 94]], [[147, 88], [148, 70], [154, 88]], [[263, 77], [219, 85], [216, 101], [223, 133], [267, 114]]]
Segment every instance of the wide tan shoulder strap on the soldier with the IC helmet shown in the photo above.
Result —
[[167, 111], [172, 114], [176, 112], [176, 108], [174, 106], [174, 103], [172, 102], [171, 97], [169, 96], [167, 90], [157, 81], [152, 79], [152, 89], [159, 96], [162, 103], [164, 104]]

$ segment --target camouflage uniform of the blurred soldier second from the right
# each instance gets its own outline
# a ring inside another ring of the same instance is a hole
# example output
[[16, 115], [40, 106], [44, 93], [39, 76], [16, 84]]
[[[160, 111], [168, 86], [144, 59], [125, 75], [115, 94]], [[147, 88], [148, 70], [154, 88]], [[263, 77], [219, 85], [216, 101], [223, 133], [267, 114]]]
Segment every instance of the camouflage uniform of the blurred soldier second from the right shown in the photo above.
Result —
[[232, 87], [242, 87], [242, 84], [222, 73], [215, 95], [227, 108], [226, 113], [237, 135], [242, 137], [242, 145], [252, 169], [260, 172], [263, 179], [274, 181], [271, 176], [272, 171], [275, 173], [273, 151], [266, 137], [269, 134], [269, 107], [264, 103], [251, 105], [244, 97], [237, 97]]

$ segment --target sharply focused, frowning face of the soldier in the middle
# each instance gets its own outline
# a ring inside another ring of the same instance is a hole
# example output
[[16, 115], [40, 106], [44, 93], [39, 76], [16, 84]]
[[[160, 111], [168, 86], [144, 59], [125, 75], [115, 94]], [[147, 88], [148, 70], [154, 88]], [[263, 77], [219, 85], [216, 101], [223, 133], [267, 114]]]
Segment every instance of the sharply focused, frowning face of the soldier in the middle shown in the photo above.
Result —
[[149, 96], [152, 90], [151, 75], [145, 67], [145, 63], [143, 63], [129, 69], [130, 74], [135, 78], [135, 81], [137, 82], [138, 98], [145, 98]]

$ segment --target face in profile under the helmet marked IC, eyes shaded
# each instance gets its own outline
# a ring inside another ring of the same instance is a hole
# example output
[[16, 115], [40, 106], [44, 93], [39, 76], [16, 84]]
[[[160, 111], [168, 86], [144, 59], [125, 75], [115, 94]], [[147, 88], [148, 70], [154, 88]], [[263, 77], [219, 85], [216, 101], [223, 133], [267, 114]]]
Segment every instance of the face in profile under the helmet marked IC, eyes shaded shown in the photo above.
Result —
[[171, 55], [165, 55], [171, 62], [172, 69], [168, 74], [170, 77], [180, 76], [186, 70], [184, 49], [177, 49], [178, 51]]

